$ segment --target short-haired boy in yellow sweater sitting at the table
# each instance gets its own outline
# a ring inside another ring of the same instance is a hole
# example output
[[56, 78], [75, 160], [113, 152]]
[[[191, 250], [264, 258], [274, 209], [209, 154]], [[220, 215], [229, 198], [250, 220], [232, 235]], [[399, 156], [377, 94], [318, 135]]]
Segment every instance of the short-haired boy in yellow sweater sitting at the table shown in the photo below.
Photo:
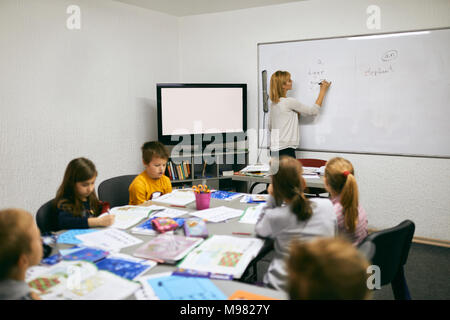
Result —
[[164, 175], [169, 160], [166, 147], [159, 141], [150, 141], [144, 143], [141, 150], [145, 170], [130, 184], [130, 205], [138, 205], [172, 192], [170, 179]]

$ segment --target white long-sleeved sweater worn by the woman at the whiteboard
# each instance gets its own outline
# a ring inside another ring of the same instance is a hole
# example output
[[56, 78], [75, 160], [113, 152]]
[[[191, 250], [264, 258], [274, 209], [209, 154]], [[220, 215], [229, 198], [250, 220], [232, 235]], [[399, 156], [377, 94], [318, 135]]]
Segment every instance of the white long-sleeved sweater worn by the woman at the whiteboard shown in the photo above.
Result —
[[[307, 106], [294, 98], [280, 98], [278, 103], [273, 103], [269, 116], [270, 150], [297, 148], [300, 144], [298, 113], [317, 115], [319, 111], [319, 105]], [[278, 137], [276, 130], [278, 130]]]

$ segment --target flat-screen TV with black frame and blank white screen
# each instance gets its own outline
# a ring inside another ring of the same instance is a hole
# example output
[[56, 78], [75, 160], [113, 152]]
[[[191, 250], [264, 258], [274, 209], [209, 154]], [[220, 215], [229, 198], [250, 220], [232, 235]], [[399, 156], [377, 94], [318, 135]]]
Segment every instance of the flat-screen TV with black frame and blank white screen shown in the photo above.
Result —
[[247, 131], [247, 84], [158, 83], [156, 96], [158, 139], [166, 145], [218, 134], [226, 142], [226, 133]]

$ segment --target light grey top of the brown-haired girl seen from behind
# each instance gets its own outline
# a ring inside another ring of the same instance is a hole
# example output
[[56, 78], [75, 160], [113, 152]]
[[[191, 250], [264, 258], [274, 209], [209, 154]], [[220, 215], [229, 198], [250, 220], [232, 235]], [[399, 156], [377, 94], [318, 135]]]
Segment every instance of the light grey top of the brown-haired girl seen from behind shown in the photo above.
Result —
[[337, 231], [336, 214], [329, 199], [310, 199], [313, 214], [306, 221], [298, 221], [289, 206], [277, 207], [275, 199], [269, 196], [263, 208], [255, 231], [260, 237], [274, 239], [275, 255], [269, 265], [263, 282], [277, 290], [286, 290], [286, 259], [289, 244], [296, 238], [308, 241], [315, 237], [334, 237]]

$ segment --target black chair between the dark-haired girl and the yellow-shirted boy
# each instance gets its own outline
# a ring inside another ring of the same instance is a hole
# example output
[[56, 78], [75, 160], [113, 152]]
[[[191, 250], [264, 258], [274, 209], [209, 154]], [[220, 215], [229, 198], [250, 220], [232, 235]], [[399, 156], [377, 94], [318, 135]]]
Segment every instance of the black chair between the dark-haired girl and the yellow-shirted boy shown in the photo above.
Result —
[[124, 175], [102, 181], [98, 186], [98, 198], [110, 207], [125, 206], [129, 203], [128, 187], [136, 175]]

